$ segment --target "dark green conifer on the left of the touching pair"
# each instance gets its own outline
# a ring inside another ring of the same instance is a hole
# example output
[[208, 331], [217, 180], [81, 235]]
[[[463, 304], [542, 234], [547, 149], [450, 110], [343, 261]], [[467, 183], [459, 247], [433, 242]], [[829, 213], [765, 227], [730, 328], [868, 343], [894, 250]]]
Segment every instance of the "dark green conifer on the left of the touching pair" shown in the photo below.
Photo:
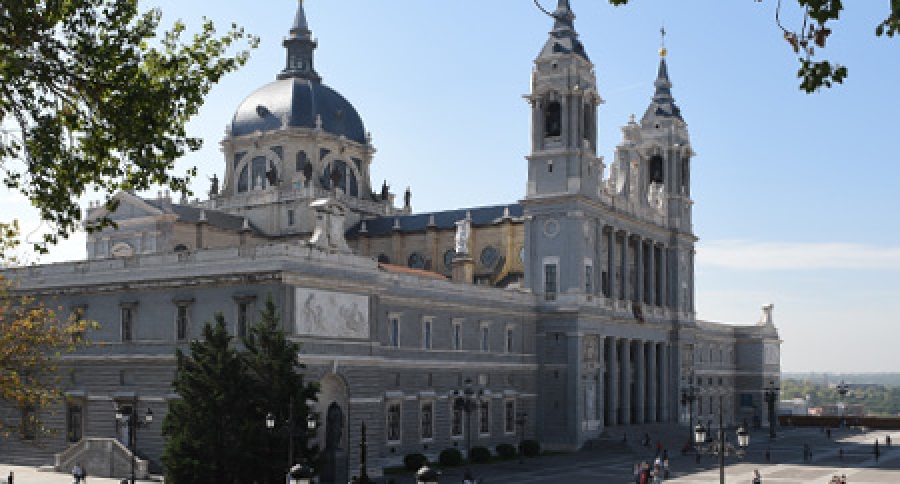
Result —
[[263, 419], [245, 358], [233, 347], [225, 319], [206, 323], [203, 339], [176, 352], [173, 400], [163, 420], [166, 482], [246, 484], [257, 478]]

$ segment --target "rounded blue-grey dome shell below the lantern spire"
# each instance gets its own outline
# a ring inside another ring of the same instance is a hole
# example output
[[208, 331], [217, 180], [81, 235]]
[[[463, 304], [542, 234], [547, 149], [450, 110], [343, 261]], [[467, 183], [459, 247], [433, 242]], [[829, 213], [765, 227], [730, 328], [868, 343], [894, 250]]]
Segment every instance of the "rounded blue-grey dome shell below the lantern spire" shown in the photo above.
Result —
[[231, 122], [231, 134], [242, 136], [281, 129], [287, 125], [315, 128], [366, 143], [366, 130], [359, 113], [343, 96], [315, 80], [299, 77], [279, 79], [251, 94], [241, 103]]

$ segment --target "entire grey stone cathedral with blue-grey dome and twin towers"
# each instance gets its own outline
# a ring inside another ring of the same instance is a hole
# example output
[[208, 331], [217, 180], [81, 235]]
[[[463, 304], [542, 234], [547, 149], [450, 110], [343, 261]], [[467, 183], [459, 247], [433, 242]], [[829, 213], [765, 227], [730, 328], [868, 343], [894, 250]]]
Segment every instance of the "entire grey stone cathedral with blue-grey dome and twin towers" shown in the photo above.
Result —
[[[408, 191], [372, 184], [372, 137], [317, 71], [301, 2], [284, 68], [225, 128], [208, 198], [118, 193], [114, 213], [88, 210], [117, 228], [89, 234], [85, 260], [20, 270], [23, 289], [98, 321], [101, 344], [64, 359], [65, 408], [47, 419], [65, 431], [6, 439], [3, 454], [118, 469], [129, 436], [114, 407], [161, 422], [178, 398], [175, 349], [216, 312], [246, 334], [269, 297], [321, 385], [317, 439], [333, 463], [322, 482], [359, 468], [363, 423], [376, 475], [409, 453], [520, 438], [574, 450], [712, 419], [720, 405], [728, 423], [764, 424], [764, 390], [780, 378], [772, 306], [751, 324], [695, 317], [695, 152], [665, 50], [649, 106], [607, 164], [575, 15], [568, 0], [549, 13], [525, 96], [521, 200], [415, 213]], [[477, 405], [454, 405], [461, 395]], [[158, 470], [160, 425], [140, 432], [140, 471]]]

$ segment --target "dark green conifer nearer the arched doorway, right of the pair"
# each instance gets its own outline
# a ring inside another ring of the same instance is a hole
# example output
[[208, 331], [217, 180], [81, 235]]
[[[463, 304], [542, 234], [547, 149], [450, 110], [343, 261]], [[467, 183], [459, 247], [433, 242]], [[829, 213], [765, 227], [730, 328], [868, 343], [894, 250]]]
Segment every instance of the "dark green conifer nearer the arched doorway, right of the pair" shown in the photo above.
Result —
[[[319, 391], [315, 383], [304, 383], [304, 368], [297, 362], [300, 344], [290, 341], [281, 328], [280, 318], [271, 295], [260, 312], [260, 321], [243, 340], [243, 352], [250, 376], [258, 414], [272, 414], [275, 428], [264, 436], [266, 458], [260, 462], [260, 475], [268, 482], [284, 482], [289, 463], [306, 459], [309, 464], [318, 462], [319, 449], [311, 446], [313, 437], [307, 431], [310, 415], [309, 402], [316, 400]], [[263, 420], [260, 420], [262, 426]], [[290, 436], [293, 427], [293, 442]], [[262, 427], [260, 427], [262, 428]]]

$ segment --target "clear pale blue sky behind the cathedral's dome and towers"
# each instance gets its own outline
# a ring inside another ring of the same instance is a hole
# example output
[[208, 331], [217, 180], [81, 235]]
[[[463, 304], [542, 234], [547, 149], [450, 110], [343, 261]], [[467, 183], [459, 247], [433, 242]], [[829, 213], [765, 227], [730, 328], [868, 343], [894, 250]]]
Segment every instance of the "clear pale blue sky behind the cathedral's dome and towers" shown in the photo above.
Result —
[[[791, 3], [791, 2], [787, 2]], [[553, 0], [544, 0], [548, 8]], [[596, 65], [600, 152], [646, 108], [668, 31], [673, 93], [698, 155], [693, 169], [699, 317], [751, 323], [775, 304], [787, 371], [900, 371], [896, 87], [900, 40], [874, 36], [886, 2], [847, 3], [823, 52], [846, 83], [807, 95], [766, 0], [571, 0]], [[214, 8], [210, 5], [214, 5]], [[216, 86], [192, 133], [195, 189], [224, 173], [218, 142], [241, 99], [274, 79], [296, 3], [150, 0], [164, 22], [203, 15], [261, 37]], [[509, 203], [525, 188], [531, 65], [551, 20], [530, 0], [307, 0], [324, 82], [358, 109], [378, 153], [373, 184], [412, 188], [416, 211]], [[802, 19], [784, 12], [788, 24]], [[25, 213], [12, 194], [8, 204]], [[26, 231], [37, 227], [23, 215]], [[45, 261], [83, 257], [83, 237]]]

